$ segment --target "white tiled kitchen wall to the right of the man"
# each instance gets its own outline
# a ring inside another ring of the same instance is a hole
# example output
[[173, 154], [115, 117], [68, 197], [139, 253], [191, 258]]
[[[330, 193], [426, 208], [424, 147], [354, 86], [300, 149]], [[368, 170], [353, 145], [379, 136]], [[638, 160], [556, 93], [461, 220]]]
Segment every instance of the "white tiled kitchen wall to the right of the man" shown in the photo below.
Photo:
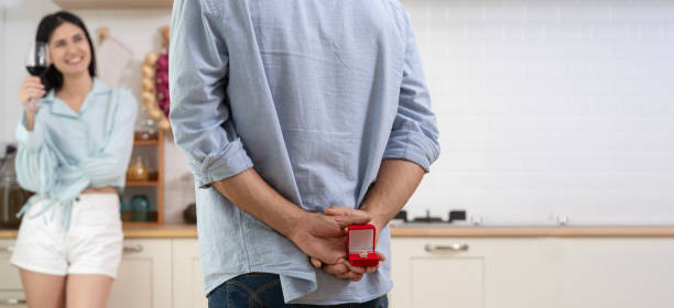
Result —
[[674, 1], [402, 2], [443, 147], [413, 216], [674, 222]]

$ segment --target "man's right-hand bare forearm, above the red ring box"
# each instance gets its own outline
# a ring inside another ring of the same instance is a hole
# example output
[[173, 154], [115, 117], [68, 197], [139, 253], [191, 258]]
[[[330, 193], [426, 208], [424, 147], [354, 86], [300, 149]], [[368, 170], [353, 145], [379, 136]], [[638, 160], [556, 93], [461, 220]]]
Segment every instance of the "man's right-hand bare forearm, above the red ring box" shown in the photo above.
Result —
[[423, 176], [424, 169], [415, 163], [383, 160], [360, 209], [369, 212], [383, 228], [412, 197]]

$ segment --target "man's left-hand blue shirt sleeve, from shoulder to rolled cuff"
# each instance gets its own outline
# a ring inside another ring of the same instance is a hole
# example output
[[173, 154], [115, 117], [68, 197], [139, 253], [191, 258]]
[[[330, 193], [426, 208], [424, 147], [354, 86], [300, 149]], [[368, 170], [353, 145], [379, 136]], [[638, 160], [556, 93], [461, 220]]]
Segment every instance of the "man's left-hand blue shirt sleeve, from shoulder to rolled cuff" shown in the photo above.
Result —
[[226, 100], [228, 51], [204, 1], [173, 6], [170, 120], [199, 187], [253, 166]]

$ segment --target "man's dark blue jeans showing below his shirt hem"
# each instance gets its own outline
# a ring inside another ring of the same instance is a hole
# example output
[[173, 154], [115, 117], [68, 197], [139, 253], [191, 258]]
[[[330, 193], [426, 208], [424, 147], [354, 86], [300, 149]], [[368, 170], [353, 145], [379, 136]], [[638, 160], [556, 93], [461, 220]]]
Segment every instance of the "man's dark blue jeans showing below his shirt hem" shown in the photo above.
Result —
[[208, 294], [208, 308], [240, 307], [339, 307], [339, 308], [387, 308], [387, 296], [366, 302], [341, 304], [335, 306], [314, 306], [285, 304], [281, 290], [281, 278], [276, 274], [249, 273], [231, 278]]

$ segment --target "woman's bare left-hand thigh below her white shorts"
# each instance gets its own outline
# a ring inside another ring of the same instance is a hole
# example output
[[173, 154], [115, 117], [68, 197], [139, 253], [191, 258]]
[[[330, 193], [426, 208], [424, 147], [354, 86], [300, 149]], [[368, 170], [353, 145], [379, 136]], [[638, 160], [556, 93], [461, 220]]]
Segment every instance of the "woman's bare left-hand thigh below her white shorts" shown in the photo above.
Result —
[[41, 274], [19, 268], [30, 308], [64, 308], [66, 276]]

